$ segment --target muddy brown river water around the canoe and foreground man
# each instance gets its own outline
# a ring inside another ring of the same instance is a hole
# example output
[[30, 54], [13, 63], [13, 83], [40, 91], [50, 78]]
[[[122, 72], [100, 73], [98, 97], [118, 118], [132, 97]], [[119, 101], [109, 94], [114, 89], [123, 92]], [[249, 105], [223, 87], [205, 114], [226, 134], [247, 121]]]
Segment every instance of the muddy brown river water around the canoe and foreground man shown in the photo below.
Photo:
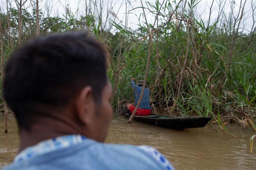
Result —
[[[177, 170], [203, 169], [256, 169], [256, 140], [250, 152], [249, 139], [253, 132], [235, 123], [227, 124], [234, 138], [210, 125], [183, 131], [155, 127], [134, 121], [125, 123], [123, 117], [113, 117], [106, 143], [149, 145], [157, 148]], [[13, 160], [18, 151], [19, 137], [15, 120], [8, 122], [4, 134], [3, 116], [0, 115], [0, 169]], [[218, 129], [217, 125], [214, 125]]]

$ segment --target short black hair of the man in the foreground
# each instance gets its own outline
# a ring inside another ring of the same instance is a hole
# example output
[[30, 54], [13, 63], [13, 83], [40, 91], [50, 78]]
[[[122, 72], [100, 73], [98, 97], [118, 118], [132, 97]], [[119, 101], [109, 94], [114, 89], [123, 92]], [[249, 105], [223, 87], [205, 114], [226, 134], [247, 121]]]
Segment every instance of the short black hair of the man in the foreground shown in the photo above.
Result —
[[108, 53], [86, 31], [38, 37], [17, 49], [5, 66], [3, 94], [19, 127], [30, 129], [43, 108], [65, 106], [79, 90], [91, 86], [101, 101]]

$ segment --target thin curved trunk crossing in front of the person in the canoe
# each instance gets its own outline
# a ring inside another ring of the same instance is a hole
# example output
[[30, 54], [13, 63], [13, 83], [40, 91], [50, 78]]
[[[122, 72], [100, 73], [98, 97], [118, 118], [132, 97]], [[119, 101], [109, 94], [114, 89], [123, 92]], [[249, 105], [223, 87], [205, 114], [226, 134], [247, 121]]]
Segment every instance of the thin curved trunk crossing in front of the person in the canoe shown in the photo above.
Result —
[[131, 117], [129, 118], [129, 123], [132, 122], [133, 120], [133, 117], [136, 113], [136, 111], [138, 110], [139, 108], [139, 105], [142, 101], [142, 97], [143, 97], [143, 94], [144, 94], [144, 90], [145, 90], [145, 86], [146, 86], [146, 80], [147, 80], [147, 74], [148, 74], [148, 70], [149, 70], [149, 63], [150, 63], [150, 56], [151, 56], [151, 42], [152, 42], [152, 35], [151, 35], [151, 32], [150, 32], [150, 28], [148, 26], [148, 22], [147, 22], [147, 18], [146, 18], [146, 13], [144, 11], [144, 7], [143, 7], [143, 3], [142, 3], [142, 0], [140, 0], [140, 3], [142, 5], [142, 9], [143, 9], [143, 13], [144, 13], [144, 16], [145, 16], [145, 20], [146, 20], [146, 24], [147, 24], [147, 30], [148, 30], [148, 57], [147, 57], [147, 66], [146, 66], [146, 72], [145, 72], [145, 76], [144, 76], [144, 81], [143, 81], [143, 86], [142, 86], [142, 91], [141, 91], [141, 94], [140, 94], [140, 98], [139, 98], [139, 101], [138, 101], [138, 104], [136, 105]]

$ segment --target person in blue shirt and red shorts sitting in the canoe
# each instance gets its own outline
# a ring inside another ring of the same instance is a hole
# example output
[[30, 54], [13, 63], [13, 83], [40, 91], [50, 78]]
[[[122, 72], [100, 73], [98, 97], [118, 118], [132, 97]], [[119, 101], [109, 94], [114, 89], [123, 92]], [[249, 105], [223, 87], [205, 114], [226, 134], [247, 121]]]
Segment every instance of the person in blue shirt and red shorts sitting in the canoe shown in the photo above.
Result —
[[[142, 86], [143, 86], [144, 80], [139, 80], [137, 85], [135, 84], [134, 81], [135, 81], [135, 78], [132, 78], [131, 85], [132, 85], [132, 88], [134, 89], [135, 105], [127, 103], [125, 106], [131, 113], [133, 113], [136, 105], [138, 104], [140, 94], [142, 92]], [[150, 115], [150, 113], [151, 113], [151, 108], [150, 108], [150, 102], [149, 102], [149, 90], [147, 87], [145, 87], [142, 101], [140, 102], [139, 108], [136, 111], [135, 115], [136, 116], [148, 116], [148, 115]]]

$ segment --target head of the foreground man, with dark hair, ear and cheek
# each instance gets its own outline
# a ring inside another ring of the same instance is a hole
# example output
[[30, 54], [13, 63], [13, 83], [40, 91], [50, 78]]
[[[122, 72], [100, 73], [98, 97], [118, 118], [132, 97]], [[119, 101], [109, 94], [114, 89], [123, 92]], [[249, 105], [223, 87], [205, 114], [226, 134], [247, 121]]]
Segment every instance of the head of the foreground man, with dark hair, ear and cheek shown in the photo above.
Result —
[[68, 117], [104, 140], [112, 117], [107, 58], [87, 32], [35, 38], [16, 50], [5, 66], [3, 93], [20, 129]]

